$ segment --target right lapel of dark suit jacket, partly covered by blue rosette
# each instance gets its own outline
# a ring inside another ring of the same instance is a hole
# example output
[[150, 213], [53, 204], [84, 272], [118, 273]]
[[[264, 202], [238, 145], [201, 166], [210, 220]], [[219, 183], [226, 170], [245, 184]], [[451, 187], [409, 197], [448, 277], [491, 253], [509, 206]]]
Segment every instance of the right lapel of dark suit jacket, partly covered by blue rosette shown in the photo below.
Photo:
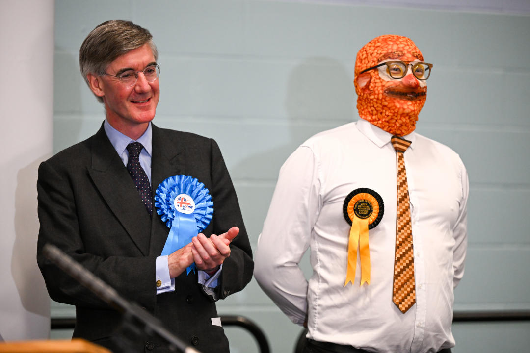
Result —
[[[167, 131], [157, 128], [151, 124], [153, 129], [153, 156], [151, 159], [151, 184], [153, 197], [160, 183], [165, 179], [179, 174], [185, 174], [185, 155], [179, 141], [171, 140], [171, 135]], [[151, 229], [151, 246], [149, 254], [160, 256], [164, 248], [165, 241], [169, 234], [169, 228], [153, 211], [153, 224]]]

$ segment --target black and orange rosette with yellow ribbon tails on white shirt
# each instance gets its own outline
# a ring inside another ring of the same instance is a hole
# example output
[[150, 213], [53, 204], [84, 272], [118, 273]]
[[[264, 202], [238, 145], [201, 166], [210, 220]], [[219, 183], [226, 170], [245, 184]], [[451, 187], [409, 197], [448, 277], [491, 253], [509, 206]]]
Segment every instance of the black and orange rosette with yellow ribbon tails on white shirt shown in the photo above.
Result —
[[385, 205], [378, 193], [369, 188], [358, 188], [346, 196], [343, 213], [351, 225], [348, 241], [348, 265], [346, 270], [346, 287], [354, 284], [357, 268], [357, 248], [361, 262], [361, 286], [370, 284], [370, 247], [368, 230], [373, 229], [383, 219]]

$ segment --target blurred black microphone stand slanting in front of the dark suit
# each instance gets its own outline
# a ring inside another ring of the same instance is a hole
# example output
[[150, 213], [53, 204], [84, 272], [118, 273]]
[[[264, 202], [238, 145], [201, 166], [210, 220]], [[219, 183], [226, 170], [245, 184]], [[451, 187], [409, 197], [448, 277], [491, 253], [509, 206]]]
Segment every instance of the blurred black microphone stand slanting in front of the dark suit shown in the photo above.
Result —
[[138, 304], [127, 301], [121, 297], [116, 289], [96, 277], [91, 271], [84, 268], [80, 263], [61, 251], [55, 245], [46, 244], [43, 248], [44, 255], [73, 277], [77, 282], [90, 289], [104, 302], [121, 312], [125, 318], [126, 330], [140, 333], [142, 330], [147, 334], [156, 334], [169, 343], [169, 348], [174, 352], [200, 353], [197, 349], [185, 345], [182, 340], [175, 337], [173, 333], [164, 328], [162, 322], [155, 316], [142, 309]]

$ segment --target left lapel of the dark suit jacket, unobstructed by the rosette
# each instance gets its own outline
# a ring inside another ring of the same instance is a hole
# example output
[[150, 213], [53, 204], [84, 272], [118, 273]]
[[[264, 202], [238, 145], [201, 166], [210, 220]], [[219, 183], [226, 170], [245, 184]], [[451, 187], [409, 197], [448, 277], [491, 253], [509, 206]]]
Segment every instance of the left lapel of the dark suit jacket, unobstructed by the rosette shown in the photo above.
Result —
[[138, 249], [147, 255], [151, 218], [103, 125], [94, 135], [91, 153], [89, 173], [94, 185]]

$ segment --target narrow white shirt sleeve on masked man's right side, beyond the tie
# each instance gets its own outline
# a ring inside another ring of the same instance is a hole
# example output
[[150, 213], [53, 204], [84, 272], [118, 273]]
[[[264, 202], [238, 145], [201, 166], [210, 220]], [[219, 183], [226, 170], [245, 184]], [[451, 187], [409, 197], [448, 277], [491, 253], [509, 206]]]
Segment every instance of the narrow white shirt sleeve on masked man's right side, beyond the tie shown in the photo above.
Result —
[[453, 248], [453, 287], [456, 288], [464, 276], [464, 263], [467, 251], [467, 197], [469, 196], [469, 180], [467, 171], [462, 161], [461, 163], [461, 181], [462, 181], [462, 199], [458, 209], [458, 219], [453, 229], [455, 246]]

